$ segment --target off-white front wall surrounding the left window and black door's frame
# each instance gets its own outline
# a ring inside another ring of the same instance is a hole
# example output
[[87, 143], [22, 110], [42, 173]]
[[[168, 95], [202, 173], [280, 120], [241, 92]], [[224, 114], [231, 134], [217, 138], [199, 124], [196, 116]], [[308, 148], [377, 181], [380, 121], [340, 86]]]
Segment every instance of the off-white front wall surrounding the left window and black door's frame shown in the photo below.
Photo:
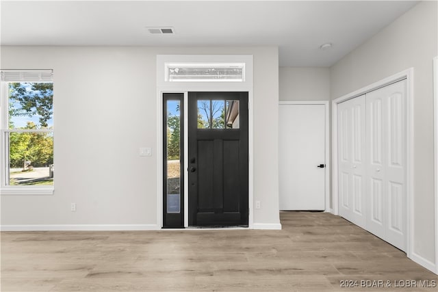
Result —
[[279, 224], [276, 47], [2, 47], [2, 68], [54, 70], [56, 173], [53, 196], [1, 196], [1, 224], [155, 227], [155, 59], [185, 53], [254, 56], [254, 222]]

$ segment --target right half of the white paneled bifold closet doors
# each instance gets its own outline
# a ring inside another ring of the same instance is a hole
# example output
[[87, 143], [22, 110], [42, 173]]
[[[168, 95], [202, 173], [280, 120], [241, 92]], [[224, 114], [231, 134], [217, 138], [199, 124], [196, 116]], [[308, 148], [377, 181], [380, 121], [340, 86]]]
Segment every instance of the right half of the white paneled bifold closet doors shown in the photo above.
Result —
[[406, 81], [366, 95], [370, 232], [406, 248]]

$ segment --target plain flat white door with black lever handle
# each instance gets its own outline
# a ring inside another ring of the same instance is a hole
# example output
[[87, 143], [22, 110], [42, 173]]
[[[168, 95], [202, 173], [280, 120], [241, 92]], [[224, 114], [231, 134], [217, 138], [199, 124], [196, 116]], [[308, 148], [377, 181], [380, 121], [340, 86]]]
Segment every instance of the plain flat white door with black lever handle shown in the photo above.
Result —
[[280, 210], [325, 210], [325, 107], [279, 107]]

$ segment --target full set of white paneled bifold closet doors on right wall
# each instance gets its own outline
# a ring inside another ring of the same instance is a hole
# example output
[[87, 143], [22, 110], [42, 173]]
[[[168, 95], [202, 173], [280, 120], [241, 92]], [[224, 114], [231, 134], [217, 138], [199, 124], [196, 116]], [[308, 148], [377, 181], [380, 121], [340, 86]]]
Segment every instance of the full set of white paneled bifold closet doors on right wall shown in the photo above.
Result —
[[406, 249], [406, 81], [338, 105], [339, 215]]

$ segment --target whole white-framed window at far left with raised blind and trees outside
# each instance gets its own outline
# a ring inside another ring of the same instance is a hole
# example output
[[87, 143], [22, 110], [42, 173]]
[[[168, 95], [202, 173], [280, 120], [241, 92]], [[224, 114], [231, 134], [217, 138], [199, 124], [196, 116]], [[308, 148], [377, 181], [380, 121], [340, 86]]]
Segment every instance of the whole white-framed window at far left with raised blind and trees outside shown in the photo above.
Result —
[[1, 70], [2, 194], [53, 191], [52, 78], [52, 70]]

